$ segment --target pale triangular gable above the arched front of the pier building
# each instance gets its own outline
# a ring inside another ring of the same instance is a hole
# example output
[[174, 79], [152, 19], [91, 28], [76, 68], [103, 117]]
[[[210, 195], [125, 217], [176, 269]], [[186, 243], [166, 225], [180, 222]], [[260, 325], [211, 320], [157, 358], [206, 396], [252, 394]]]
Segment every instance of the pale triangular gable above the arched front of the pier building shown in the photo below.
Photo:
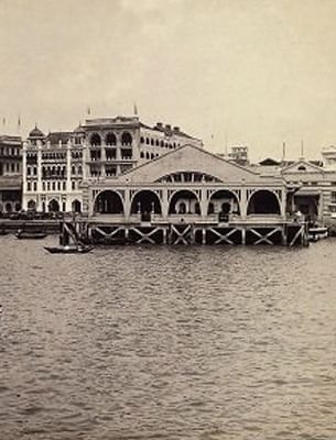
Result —
[[[241, 165], [226, 161], [218, 155], [194, 145], [183, 145], [153, 161], [142, 164], [120, 177], [120, 182], [154, 183], [163, 176], [182, 172], [203, 173], [224, 183], [264, 183], [265, 178]], [[270, 178], [279, 183], [279, 178]]]

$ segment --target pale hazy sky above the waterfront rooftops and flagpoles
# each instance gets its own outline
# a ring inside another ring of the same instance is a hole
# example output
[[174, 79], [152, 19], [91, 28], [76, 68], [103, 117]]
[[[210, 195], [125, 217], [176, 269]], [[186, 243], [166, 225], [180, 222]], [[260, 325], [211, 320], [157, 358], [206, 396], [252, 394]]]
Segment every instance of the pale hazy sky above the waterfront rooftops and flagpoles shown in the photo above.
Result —
[[[0, 0], [0, 133], [170, 123], [252, 161], [336, 144], [336, 0]], [[20, 116], [21, 127], [18, 127]]]

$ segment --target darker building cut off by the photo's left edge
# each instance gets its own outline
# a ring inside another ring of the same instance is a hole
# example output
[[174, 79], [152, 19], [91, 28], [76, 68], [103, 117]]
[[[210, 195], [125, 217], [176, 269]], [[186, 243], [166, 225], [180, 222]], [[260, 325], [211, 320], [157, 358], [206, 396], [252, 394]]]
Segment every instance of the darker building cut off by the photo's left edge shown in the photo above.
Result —
[[22, 140], [20, 136], [0, 135], [0, 212], [21, 209]]

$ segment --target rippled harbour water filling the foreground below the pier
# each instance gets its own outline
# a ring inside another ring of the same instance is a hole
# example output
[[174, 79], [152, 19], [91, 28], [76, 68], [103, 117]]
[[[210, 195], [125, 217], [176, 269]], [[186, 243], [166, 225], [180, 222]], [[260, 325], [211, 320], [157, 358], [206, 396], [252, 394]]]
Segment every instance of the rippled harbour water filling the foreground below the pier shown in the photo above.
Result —
[[336, 240], [0, 238], [1, 440], [336, 438]]

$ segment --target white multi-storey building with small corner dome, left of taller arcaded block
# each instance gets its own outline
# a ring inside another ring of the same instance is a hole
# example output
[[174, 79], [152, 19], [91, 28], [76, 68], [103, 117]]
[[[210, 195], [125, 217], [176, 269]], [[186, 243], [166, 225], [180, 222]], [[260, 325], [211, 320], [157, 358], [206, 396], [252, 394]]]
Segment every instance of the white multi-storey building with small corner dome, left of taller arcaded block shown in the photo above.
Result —
[[82, 210], [83, 145], [73, 132], [45, 135], [37, 127], [23, 144], [24, 209], [42, 212]]

